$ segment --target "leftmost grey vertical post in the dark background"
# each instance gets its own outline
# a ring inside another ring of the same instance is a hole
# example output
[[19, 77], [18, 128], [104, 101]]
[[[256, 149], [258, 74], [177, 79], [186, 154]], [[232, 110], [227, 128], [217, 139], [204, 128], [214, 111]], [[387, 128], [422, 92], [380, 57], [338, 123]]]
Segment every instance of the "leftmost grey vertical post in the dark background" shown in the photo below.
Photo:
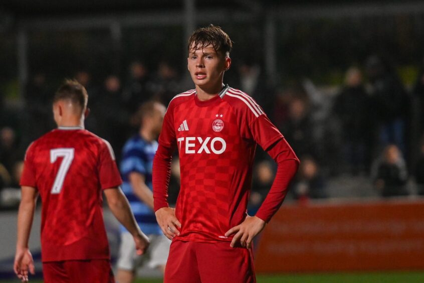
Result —
[[24, 99], [24, 92], [28, 82], [28, 34], [24, 29], [18, 31], [18, 80], [19, 95]]

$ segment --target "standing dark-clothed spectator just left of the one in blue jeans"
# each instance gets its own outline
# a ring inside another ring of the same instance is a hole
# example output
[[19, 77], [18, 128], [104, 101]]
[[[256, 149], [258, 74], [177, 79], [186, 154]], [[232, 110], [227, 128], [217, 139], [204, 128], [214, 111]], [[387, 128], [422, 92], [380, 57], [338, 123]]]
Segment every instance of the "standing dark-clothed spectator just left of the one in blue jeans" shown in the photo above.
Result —
[[[356, 67], [347, 70], [345, 86], [337, 95], [333, 112], [341, 123], [343, 161], [348, 163], [348, 172], [356, 175], [367, 168], [371, 146], [370, 99], [362, 84], [361, 71]], [[368, 161], [368, 162], [367, 162]]]

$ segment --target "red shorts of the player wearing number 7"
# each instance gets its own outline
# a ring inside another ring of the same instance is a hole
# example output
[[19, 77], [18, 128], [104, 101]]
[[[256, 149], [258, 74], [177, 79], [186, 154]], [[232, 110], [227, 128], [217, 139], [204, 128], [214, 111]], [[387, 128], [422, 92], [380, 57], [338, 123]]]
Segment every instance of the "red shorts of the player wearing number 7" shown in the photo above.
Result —
[[109, 259], [43, 262], [44, 282], [114, 283]]

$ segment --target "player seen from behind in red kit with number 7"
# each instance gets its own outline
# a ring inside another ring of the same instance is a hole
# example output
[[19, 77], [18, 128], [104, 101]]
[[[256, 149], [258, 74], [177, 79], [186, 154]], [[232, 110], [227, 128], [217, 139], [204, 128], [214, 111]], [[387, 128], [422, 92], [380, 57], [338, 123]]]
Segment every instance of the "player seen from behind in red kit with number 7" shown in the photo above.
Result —
[[14, 269], [22, 281], [34, 263], [28, 247], [38, 195], [42, 200], [41, 248], [45, 282], [114, 282], [103, 223], [102, 192], [130, 231], [138, 253], [148, 238], [118, 187], [121, 178], [109, 143], [84, 129], [88, 95], [67, 80], [53, 101], [58, 126], [32, 143], [21, 178]]

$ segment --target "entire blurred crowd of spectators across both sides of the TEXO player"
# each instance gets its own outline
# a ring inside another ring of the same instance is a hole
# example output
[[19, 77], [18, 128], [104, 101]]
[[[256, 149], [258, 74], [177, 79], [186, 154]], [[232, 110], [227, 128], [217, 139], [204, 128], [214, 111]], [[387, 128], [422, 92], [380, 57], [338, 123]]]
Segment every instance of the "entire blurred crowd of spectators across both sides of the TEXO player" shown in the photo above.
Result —
[[[424, 194], [424, 67], [410, 91], [378, 56], [348, 68], [343, 85], [328, 93], [309, 79], [272, 85], [252, 62], [242, 62], [231, 72], [226, 82], [262, 105], [301, 160], [291, 185], [293, 199], [331, 197], [326, 183], [339, 176], [364, 176], [382, 197]], [[0, 101], [1, 188], [19, 188], [26, 148], [54, 128], [55, 87], [47, 77], [43, 72], [31, 76], [22, 109], [12, 113]], [[150, 99], [167, 105], [175, 94], [192, 88], [183, 73], [167, 62], [151, 71], [141, 61], [133, 61], [127, 77], [110, 73], [99, 80], [85, 69], [74, 77], [89, 93], [86, 128], [109, 140], [118, 162], [125, 140], [138, 129], [134, 116], [138, 106]], [[179, 186], [177, 162], [173, 163], [171, 202], [176, 201]], [[274, 172], [274, 163], [258, 149], [251, 211], [265, 198]], [[408, 181], [414, 183], [414, 192], [407, 189]]]

